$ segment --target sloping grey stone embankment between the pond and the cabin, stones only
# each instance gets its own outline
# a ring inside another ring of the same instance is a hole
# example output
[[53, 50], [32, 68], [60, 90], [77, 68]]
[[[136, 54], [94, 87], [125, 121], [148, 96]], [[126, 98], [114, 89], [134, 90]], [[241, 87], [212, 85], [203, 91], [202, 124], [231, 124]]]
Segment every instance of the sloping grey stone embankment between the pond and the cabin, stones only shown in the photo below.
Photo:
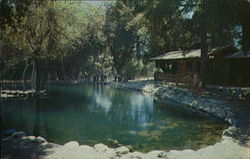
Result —
[[231, 125], [237, 125], [237, 119], [228, 106], [230, 103], [197, 95], [187, 89], [170, 85], [156, 84], [155, 82], [111, 82], [111, 86], [117, 88], [133, 89], [153, 95], [160, 101], [168, 104], [184, 106], [192, 111], [199, 111], [226, 121]]

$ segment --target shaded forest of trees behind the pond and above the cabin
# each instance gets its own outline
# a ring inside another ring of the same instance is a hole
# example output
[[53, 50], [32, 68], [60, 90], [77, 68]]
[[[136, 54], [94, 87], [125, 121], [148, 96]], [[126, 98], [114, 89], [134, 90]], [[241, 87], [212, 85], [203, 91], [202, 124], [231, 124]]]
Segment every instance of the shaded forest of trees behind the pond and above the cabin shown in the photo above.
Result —
[[0, 1], [1, 79], [72, 80], [104, 71], [152, 75], [148, 59], [173, 50], [250, 50], [245, 0]]

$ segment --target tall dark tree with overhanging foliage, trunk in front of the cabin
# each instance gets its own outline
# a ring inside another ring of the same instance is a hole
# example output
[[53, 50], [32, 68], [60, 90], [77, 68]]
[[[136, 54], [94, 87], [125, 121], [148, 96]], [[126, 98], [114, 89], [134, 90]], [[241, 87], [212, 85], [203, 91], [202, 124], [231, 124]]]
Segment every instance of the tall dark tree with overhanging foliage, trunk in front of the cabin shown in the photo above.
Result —
[[[246, 15], [249, 13], [249, 3], [241, 0], [200, 0], [196, 4], [192, 20], [194, 23], [194, 34], [199, 30], [201, 81], [203, 86], [207, 82], [208, 50], [226, 45], [233, 46], [234, 40], [238, 38], [236, 32], [237, 25], [241, 25], [242, 28], [249, 27], [249, 20], [246, 20]], [[242, 29], [242, 33], [242, 48], [247, 50], [249, 46], [249, 32]]]

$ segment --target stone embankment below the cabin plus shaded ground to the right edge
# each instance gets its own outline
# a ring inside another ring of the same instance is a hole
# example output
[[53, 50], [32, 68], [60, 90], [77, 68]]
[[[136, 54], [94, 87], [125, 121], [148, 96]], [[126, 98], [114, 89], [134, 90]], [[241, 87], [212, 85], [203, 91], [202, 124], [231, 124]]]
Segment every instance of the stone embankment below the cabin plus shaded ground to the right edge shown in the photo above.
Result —
[[247, 140], [250, 145], [250, 103], [248, 102], [222, 100], [213, 95], [204, 96], [188, 89], [157, 84], [154, 81], [111, 82], [110, 85], [118, 89], [137, 90], [150, 94], [163, 103], [181, 106], [203, 116], [215, 117], [236, 127], [240, 132], [237, 135], [247, 136], [244, 140]]

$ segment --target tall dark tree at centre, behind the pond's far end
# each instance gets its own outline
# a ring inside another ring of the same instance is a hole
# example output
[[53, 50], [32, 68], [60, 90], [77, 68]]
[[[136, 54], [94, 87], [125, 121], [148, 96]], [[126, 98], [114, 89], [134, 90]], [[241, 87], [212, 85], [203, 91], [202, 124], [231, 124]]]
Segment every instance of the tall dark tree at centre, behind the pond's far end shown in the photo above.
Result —
[[113, 56], [115, 70], [124, 74], [124, 66], [136, 52], [136, 39], [133, 28], [128, 26], [133, 19], [133, 8], [122, 1], [117, 1], [107, 11], [106, 30], [107, 45]]

